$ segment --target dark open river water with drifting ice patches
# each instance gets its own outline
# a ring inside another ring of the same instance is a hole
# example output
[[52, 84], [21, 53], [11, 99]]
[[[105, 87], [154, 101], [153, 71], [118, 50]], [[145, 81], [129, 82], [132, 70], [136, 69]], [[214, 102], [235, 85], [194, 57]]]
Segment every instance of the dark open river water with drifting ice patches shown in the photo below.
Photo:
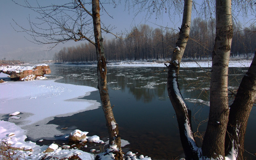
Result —
[[[51, 65], [52, 75], [63, 76], [57, 82], [97, 88], [96, 66]], [[124, 151], [138, 152], [152, 159], [182, 156], [175, 112], [169, 100], [164, 67], [108, 67], [108, 91], [122, 139], [129, 141]], [[236, 90], [247, 68], [230, 68], [229, 89]], [[207, 73], [208, 70], [206, 69]], [[193, 129], [205, 120], [209, 111], [209, 78], [200, 68], [181, 68], [180, 90], [192, 110]], [[99, 91], [85, 99], [100, 102]], [[70, 106], [72, 107], [72, 106]], [[255, 153], [255, 107], [252, 108], [245, 137], [245, 149]], [[102, 108], [68, 117], [55, 117], [50, 124], [88, 131], [88, 136], [108, 137]], [[199, 127], [204, 131], [206, 123]], [[68, 132], [68, 130], [67, 130]], [[197, 139], [200, 143], [200, 139]]]

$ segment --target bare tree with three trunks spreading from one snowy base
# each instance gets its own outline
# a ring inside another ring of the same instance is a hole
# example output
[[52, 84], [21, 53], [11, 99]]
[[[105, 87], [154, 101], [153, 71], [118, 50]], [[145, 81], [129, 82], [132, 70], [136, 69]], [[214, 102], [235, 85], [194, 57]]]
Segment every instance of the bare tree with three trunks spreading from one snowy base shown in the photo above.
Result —
[[[256, 58], [254, 57], [240, 84], [239, 94], [230, 106], [232, 109], [229, 114], [228, 63], [233, 36], [231, 1], [216, 0], [216, 38], [212, 52], [210, 113], [203, 144], [199, 148], [191, 126], [191, 111], [180, 94], [178, 84], [180, 60], [187, 44], [190, 26], [187, 10], [191, 5], [191, 1], [184, 1], [183, 21], [177, 47], [173, 51], [170, 65], [166, 65], [168, 94], [176, 112], [185, 157], [186, 159], [225, 159], [226, 156], [230, 159], [243, 159], [245, 129], [256, 96]], [[187, 21], [184, 21], [185, 14]], [[183, 28], [187, 25], [188, 29], [185, 32]], [[246, 83], [248, 86], [245, 85]], [[244, 96], [246, 98], [243, 99]]]

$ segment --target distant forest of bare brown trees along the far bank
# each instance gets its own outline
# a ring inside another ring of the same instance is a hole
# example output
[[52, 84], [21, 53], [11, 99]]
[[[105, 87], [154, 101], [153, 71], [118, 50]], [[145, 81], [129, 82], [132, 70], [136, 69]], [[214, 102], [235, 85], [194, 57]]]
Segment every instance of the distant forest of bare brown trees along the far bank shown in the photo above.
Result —
[[[256, 49], [256, 26], [242, 28], [233, 25], [233, 39], [230, 56], [251, 57]], [[105, 40], [107, 61], [168, 60], [171, 59], [178, 31], [169, 28], [153, 29], [141, 24], [134, 27], [128, 38]], [[194, 19], [190, 28], [190, 39], [183, 58], [211, 58], [215, 38], [215, 20]], [[64, 47], [54, 55], [54, 62], [96, 62], [95, 47], [84, 43]]]

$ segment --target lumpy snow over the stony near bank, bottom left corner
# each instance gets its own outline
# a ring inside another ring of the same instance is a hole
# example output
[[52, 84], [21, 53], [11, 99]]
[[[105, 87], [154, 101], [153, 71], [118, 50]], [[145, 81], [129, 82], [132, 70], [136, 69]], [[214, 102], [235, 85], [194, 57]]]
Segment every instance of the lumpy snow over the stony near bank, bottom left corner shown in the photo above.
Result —
[[[81, 150], [66, 150], [58, 148], [58, 145], [51, 144], [48, 146], [39, 146], [36, 143], [27, 141], [27, 136], [23, 135], [25, 130], [21, 129], [12, 122], [0, 121], [0, 142], [8, 143], [10, 149], [15, 150], [17, 155], [24, 159], [41, 159], [42, 157], [54, 157], [52, 159], [68, 159], [73, 156], [78, 156], [82, 160], [92, 159], [92, 154], [83, 152]], [[8, 137], [9, 134], [15, 133], [15, 135]], [[45, 153], [47, 148], [51, 148], [52, 152]], [[68, 147], [67, 147], [68, 148]]]

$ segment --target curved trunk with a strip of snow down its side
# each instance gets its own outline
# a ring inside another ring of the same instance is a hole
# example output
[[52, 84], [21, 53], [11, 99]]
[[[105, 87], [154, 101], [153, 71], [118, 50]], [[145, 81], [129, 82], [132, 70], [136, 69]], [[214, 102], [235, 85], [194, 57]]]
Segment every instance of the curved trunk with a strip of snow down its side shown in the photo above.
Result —
[[168, 66], [167, 90], [172, 106], [175, 110], [182, 147], [186, 159], [198, 159], [197, 144], [191, 126], [191, 111], [180, 94], [178, 74], [180, 61], [188, 42], [191, 22], [192, 0], [184, 1], [184, 12], [176, 48], [173, 51], [170, 65]]

